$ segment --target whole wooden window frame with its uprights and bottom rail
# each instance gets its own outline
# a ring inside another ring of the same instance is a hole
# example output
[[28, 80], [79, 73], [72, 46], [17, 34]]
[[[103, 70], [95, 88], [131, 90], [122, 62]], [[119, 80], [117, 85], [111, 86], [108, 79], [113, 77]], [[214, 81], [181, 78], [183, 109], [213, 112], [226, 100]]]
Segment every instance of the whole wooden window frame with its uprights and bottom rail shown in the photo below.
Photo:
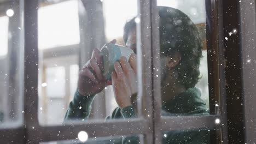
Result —
[[[84, 0], [85, 2], [89, 2], [91, 0]], [[42, 127], [38, 122], [38, 73], [34, 73], [34, 71], [38, 71], [38, 42], [37, 42], [37, 8], [38, 1], [34, 0], [26, 0], [24, 3], [24, 26], [25, 26], [25, 71], [24, 76], [26, 79], [24, 80], [24, 125], [18, 128], [6, 128], [0, 129], [0, 135], [3, 135], [4, 141], [8, 143], [10, 141], [14, 141], [17, 143], [39, 143], [46, 141], [57, 141], [57, 140], [67, 140], [67, 139], [75, 139], [77, 134], [81, 130], [85, 130], [88, 132], [89, 137], [90, 134], [94, 133], [94, 136], [110, 136], [110, 135], [136, 135], [136, 134], [144, 134], [144, 140], [146, 143], [161, 143], [161, 132], [164, 130], [184, 130], [184, 129], [208, 129], [213, 128], [216, 129], [217, 133], [213, 134], [213, 136], [217, 136], [219, 141], [222, 143], [228, 143], [228, 119], [235, 121], [237, 118], [232, 118], [227, 115], [228, 112], [235, 112], [230, 110], [230, 107], [235, 106], [234, 104], [228, 104], [226, 100], [228, 97], [232, 95], [227, 92], [229, 91], [229, 87], [225, 85], [225, 80], [228, 84], [231, 84], [232, 77], [225, 72], [229, 70], [231, 67], [231, 63], [226, 63], [224, 67], [225, 58], [228, 58], [228, 61], [232, 62], [232, 58], [237, 58], [236, 56], [232, 56], [230, 53], [224, 51], [224, 47], [227, 46], [235, 46], [241, 48], [243, 50], [243, 56], [246, 56], [249, 51], [245, 48], [246, 46], [241, 46], [237, 44], [231, 44], [224, 40], [224, 37], [228, 34], [226, 31], [223, 31], [223, 27], [227, 26], [228, 20], [234, 20], [235, 18], [231, 17], [229, 19], [225, 19], [225, 11], [224, 9], [228, 9], [230, 5], [237, 4], [237, 2], [232, 2], [227, 4], [223, 0], [214, 1], [214, 0], [206, 0], [206, 17], [208, 17], [207, 21], [207, 50], [212, 50], [208, 52], [208, 73], [209, 73], [209, 89], [210, 91], [210, 112], [212, 115], [209, 116], [182, 116], [182, 117], [161, 117], [161, 97], [160, 97], [160, 81], [158, 77], [154, 75], [159, 74], [158, 71], [154, 71], [153, 68], [159, 68], [160, 63], [158, 61], [159, 58], [159, 30], [158, 30], [158, 10], [156, 7], [156, 0], [141, 0], [138, 1], [139, 11], [141, 13], [141, 42], [143, 47], [148, 47], [148, 51], [144, 51], [145, 57], [143, 61], [147, 61], [146, 64], [143, 65], [143, 73], [144, 77], [147, 79], [143, 79], [142, 81], [146, 83], [148, 89], [145, 90], [143, 87], [143, 94], [147, 95], [145, 97], [145, 101], [148, 105], [146, 108], [148, 111], [144, 113], [144, 118], [136, 118], [129, 119], [129, 121], [111, 121], [111, 122], [93, 122], [93, 123], [75, 123], [75, 124], [65, 124], [65, 125], [57, 125], [57, 126], [46, 126]], [[246, 2], [241, 3], [239, 6], [241, 8], [245, 7]], [[237, 4], [238, 7], [238, 4]], [[252, 6], [255, 10], [255, 4]], [[238, 10], [238, 9], [236, 9]], [[148, 15], [148, 13], [152, 15]], [[231, 13], [232, 14], [232, 13]], [[252, 14], [243, 15], [241, 13], [241, 19], [243, 17], [247, 17]], [[238, 16], [238, 15], [236, 15]], [[255, 18], [254, 18], [255, 20]], [[234, 26], [238, 28], [240, 31], [238, 22], [234, 23]], [[251, 25], [252, 26], [252, 25]], [[149, 28], [147, 28], [149, 27]], [[241, 28], [245, 33], [242, 33], [242, 36], [246, 37], [246, 32], [249, 29], [242, 27]], [[254, 28], [255, 30], [255, 28]], [[239, 32], [238, 31], [238, 32]], [[255, 36], [255, 35], [252, 35]], [[247, 35], [247, 37], [249, 37]], [[236, 39], [240, 41], [240, 39]], [[154, 41], [154, 43], [153, 43]], [[246, 40], [241, 40], [243, 44], [251, 44]], [[214, 52], [214, 53], [211, 53]], [[236, 54], [240, 54], [240, 51], [235, 51]], [[152, 59], [153, 57], [153, 59]], [[254, 57], [255, 58], [255, 55]], [[238, 59], [242, 59], [242, 56], [238, 56]], [[221, 66], [220, 64], [223, 65]], [[240, 61], [235, 61], [235, 64], [238, 64], [238, 67], [241, 67]], [[233, 64], [234, 64], [233, 63]], [[254, 64], [255, 65], [255, 64]], [[244, 65], [246, 66], [246, 65]], [[228, 68], [227, 68], [228, 67]], [[242, 68], [243, 78], [245, 80], [250, 81], [249, 76], [246, 74], [246, 68]], [[210, 74], [212, 72], [212, 74]], [[237, 76], [241, 76], [242, 72], [238, 71]], [[248, 74], [249, 75], [249, 74]], [[213, 81], [214, 79], [217, 81]], [[218, 81], [219, 80], [219, 81]], [[241, 81], [238, 81], [238, 84], [241, 84]], [[253, 82], [253, 81], [251, 81]], [[245, 89], [246, 83], [243, 83]], [[248, 86], [252, 87], [252, 86]], [[234, 88], [238, 88], [238, 86], [234, 86]], [[154, 91], [152, 91], [154, 89]], [[252, 88], [253, 90], [253, 88]], [[253, 91], [245, 91], [246, 93]], [[239, 90], [237, 94], [243, 98], [243, 94], [241, 94], [242, 90]], [[254, 92], [255, 93], [255, 92]], [[149, 95], [152, 95], [150, 97]], [[248, 97], [246, 97], [249, 100]], [[215, 107], [215, 101], [220, 104], [220, 108]], [[243, 101], [240, 101], [243, 103]], [[30, 104], [30, 105], [25, 105]], [[243, 106], [241, 106], [243, 108]], [[154, 111], [153, 111], [154, 109]], [[243, 111], [240, 109], [239, 112]], [[249, 113], [246, 110], [246, 113]], [[215, 124], [214, 119], [219, 118], [222, 122], [221, 124]], [[250, 116], [245, 116], [243, 119], [249, 119]], [[153, 121], [154, 119], [154, 121]], [[181, 125], [180, 122], [186, 122], [185, 125]], [[193, 127], [191, 127], [193, 125]], [[249, 127], [248, 122], [246, 123], [247, 128]], [[129, 130], [127, 130], [129, 127]], [[141, 129], [137, 129], [137, 128]], [[149, 130], [150, 128], [150, 130]], [[72, 133], [70, 131], [72, 130]], [[123, 129], [123, 130], [120, 130]], [[151, 130], [153, 129], [153, 130]], [[237, 129], [242, 130], [237, 127]], [[246, 129], [247, 131], [249, 129]], [[59, 132], [60, 131], [60, 132]], [[107, 132], [106, 132], [107, 131]], [[242, 130], [243, 131], [243, 130]], [[59, 134], [60, 136], [57, 136]], [[236, 136], [234, 133], [229, 134], [229, 138], [231, 136]], [[253, 135], [248, 135], [247, 140], [253, 139]], [[11, 137], [11, 138], [10, 138]], [[245, 137], [242, 136], [242, 139]], [[11, 139], [11, 140], [10, 140]]]

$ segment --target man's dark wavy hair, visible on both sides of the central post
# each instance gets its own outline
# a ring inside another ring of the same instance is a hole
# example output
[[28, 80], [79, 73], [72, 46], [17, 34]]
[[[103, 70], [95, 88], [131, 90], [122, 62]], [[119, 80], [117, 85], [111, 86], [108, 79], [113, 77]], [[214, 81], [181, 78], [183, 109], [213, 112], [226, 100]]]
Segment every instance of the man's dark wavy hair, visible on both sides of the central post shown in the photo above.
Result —
[[[199, 31], [190, 18], [182, 11], [170, 7], [158, 7], [160, 52], [162, 57], [181, 54], [181, 61], [175, 67], [178, 79], [188, 89], [194, 87], [200, 79], [200, 58], [202, 57], [202, 40]], [[132, 28], [136, 27], [135, 18], [126, 22], [124, 41]]]

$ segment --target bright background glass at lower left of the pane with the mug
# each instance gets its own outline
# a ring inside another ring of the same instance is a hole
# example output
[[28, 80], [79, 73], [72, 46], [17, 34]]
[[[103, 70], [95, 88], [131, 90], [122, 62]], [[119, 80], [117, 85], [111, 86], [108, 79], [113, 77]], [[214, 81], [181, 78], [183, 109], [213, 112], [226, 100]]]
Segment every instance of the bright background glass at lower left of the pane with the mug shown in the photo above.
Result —
[[66, 75], [65, 67], [49, 67], [43, 70], [45, 81], [40, 85], [42, 91], [39, 103], [39, 122], [57, 124], [63, 122], [65, 115]]

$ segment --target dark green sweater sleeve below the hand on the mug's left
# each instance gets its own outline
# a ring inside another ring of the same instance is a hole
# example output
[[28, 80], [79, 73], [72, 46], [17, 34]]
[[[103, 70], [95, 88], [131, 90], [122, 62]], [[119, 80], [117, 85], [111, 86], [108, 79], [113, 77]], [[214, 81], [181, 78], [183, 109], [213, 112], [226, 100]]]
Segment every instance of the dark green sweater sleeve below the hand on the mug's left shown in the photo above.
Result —
[[86, 97], [75, 91], [74, 99], [69, 103], [65, 121], [88, 118], [94, 97], [95, 95]]

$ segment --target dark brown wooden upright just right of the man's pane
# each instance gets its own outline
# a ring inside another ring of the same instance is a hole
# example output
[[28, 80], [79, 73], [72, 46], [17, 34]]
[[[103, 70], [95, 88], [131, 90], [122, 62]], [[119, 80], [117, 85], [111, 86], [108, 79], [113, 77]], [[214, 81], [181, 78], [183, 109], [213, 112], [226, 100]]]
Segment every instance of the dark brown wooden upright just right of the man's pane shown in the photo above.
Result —
[[[223, 49], [223, 5], [222, 1], [206, 0], [206, 39], [209, 105], [211, 115], [220, 115], [222, 128], [211, 132], [216, 143], [227, 143], [225, 59]], [[219, 139], [216, 139], [217, 136]]]

